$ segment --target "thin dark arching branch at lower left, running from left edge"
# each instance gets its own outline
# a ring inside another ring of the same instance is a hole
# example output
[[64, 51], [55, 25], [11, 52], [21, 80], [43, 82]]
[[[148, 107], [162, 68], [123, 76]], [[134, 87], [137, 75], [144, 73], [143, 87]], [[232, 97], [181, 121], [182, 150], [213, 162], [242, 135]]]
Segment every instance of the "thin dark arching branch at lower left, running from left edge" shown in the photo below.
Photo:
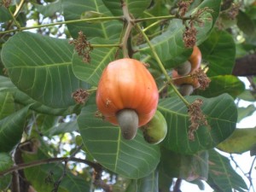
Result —
[[56, 163], [56, 162], [61, 162], [61, 161], [75, 161], [75, 162], [87, 164], [88, 166], [91, 166], [93, 168], [98, 167], [98, 165], [96, 163], [90, 162], [89, 160], [82, 160], [82, 159], [75, 158], [75, 157], [50, 158], [50, 159], [46, 159], [46, 160], [36, 160], [36, 161], [29, 162], [29, 163], [18, 164], [16, 166], [9, 168], [8, 170], [0, 172], [0, 178], [8, 175], [11, 172], [26, 169], [26, 168], [29, 168], [32, 166], [40, 166], [40, 165], [44, 165], [44, 164]]

